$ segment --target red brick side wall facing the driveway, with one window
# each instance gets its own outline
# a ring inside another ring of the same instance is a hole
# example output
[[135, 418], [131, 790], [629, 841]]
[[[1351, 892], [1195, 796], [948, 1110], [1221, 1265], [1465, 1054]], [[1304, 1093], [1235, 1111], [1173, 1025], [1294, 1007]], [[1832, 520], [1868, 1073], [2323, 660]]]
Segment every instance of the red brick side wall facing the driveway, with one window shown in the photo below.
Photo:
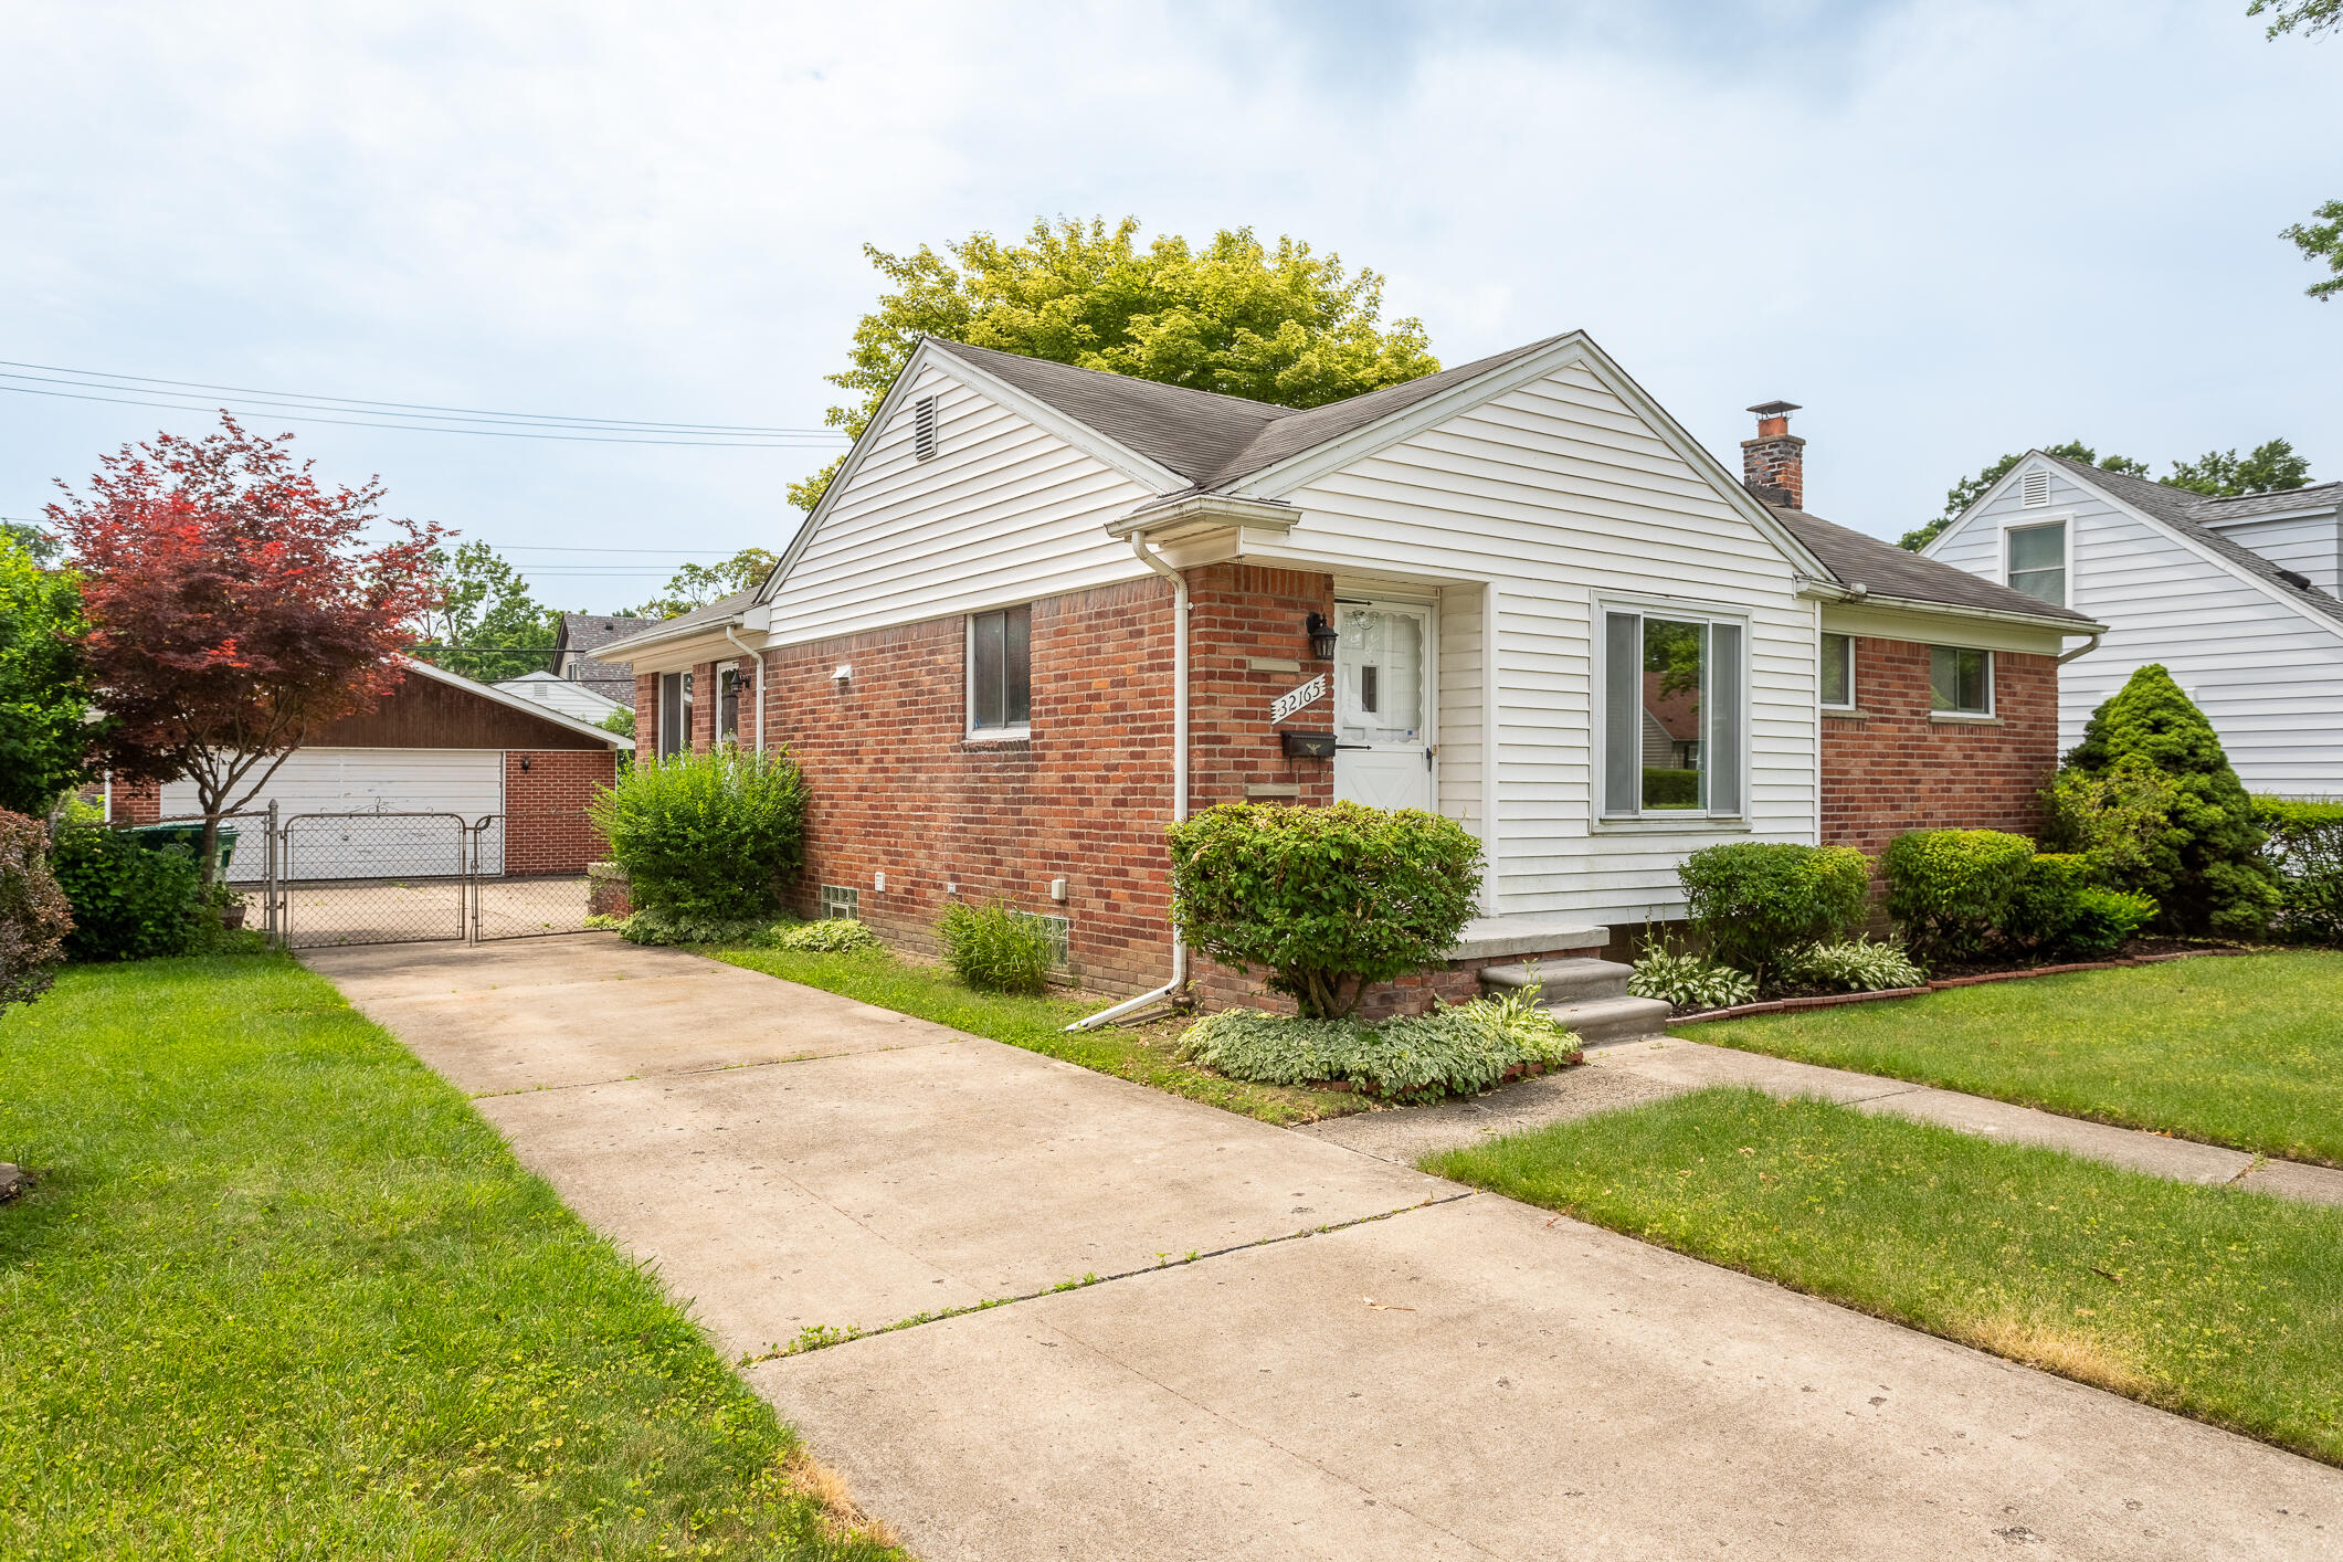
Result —
[[[963, 651], [965, 618], [951, 616], [766, 656], [766, 747], [790, 747], [813, 787], [799, 909], [825, 883], [853, 888], [874, 932], [933, 951], [958, 885], [961, 899], [1071, 918], [1071, 974], [1087, 988], [1162, 984], [1172, 588], [1033, 604], [1024, 740], [965, 738]], [[829, 677], [841, 663], [846, 684]], [[1064, 904], [1050, 899], [1059, 876]]]

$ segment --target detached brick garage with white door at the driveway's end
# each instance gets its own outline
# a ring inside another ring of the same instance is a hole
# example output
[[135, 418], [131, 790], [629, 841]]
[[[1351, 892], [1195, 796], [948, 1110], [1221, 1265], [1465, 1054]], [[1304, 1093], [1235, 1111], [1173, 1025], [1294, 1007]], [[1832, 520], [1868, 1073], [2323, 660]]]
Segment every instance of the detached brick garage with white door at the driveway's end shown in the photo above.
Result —
[[[295, 749], [248, 808], [295, 815], [431, 815], [403, 820], [305, 820], [288, 841], [286, 878], [448, 874], [459, 829], [480, 831], [480, 871], [492, 876], [583, 874], [602, 855], [586, 820], [597, 787], [619, 775], [633, 740], [429, 663], [405, 663], [405, 681], [368, 717], [337, 721]], [[124, 824], [197, 813], [194, 782], [115, 796]], [[230, 878], [260, 874], [258, 852], [237, 852]]]

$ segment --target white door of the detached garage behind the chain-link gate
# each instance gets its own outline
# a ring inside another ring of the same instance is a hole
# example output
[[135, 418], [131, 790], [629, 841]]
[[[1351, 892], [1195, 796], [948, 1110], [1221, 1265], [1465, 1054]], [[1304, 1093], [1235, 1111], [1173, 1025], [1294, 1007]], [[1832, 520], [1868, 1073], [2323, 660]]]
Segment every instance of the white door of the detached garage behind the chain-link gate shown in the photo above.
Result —
[[[295, 749], [248, 808], [274, 799], [295, 815], [462, 815], [476, 824], [504, 813], [501, 749]], [[164, 817], [197, 813], [194, 782], [164, 782]], [[398, 878], [459, 871], [455, 820], [302, 817], [291, 827], [286, 878]], [[258, 841], [253, 843], [258, 845]], [[260, 878], [265, 852], [244, 850], [230, 878]], [[480, 841], [480, 871], [504, 871], [504, 831]]]

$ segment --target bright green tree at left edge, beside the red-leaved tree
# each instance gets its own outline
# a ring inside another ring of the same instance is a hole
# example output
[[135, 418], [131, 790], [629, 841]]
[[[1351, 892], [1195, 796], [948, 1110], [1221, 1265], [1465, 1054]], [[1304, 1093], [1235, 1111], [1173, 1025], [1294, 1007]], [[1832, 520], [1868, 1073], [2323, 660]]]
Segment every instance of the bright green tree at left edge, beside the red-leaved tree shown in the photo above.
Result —
[[0, 539], [0, 810], [35, 820], [89, 777], [91, 681], [82, 590]]

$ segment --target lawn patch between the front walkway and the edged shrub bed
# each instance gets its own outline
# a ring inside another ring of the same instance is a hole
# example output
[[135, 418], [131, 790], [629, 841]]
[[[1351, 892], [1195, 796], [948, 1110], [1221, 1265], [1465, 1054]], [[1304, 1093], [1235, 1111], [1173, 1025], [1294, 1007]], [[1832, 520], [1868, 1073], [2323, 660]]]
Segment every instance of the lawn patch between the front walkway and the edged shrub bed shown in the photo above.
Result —
[[1689, 1035], [2343, 1166], [2343, 953], [1996, 981]]

